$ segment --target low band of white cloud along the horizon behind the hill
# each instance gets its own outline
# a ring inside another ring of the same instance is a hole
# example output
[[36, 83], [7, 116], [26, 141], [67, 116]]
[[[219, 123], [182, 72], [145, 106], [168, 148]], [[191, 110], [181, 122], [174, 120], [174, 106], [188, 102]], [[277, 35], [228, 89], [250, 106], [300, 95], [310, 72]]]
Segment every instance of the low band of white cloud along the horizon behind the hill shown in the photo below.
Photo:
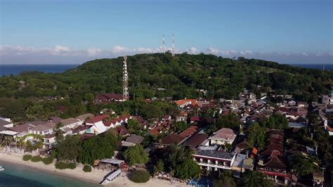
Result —
[[[116, 56], [133, 55], [137, 53], [160, 53], [162, 48], [149, 48], [138, 47], [134, 49], [126, 48], [125, 46], [113, 46], [112, 49], [103, 50], [99, 48], [89, 49], [70, 49], [68, 46], [56, 45], [53, 48], [36, 48], [32, 46], [9, 46], [0, 45], [0, 63], [36, 63], [36, 61], [45, 59], [53, 59], [56, 63], [59, 61], [77, 63], [84, 62], [84, 60], [91, 60], [91, 58], [113, 58]], [[166, 51], [171, 51], [167, 48]], [[192, 46], [190, 49], [185, 50], [191, 54], [200, 53], [200, 49]], [[176, 49], [176, 53], [183, 53], [180, 49]], [[279, 53], [267, 51], [222, 51], [221, 49], [210, 47], [206, 53], [214, 54], [216, 56], [223, 56], [233, 58], [234, 56], [244, 56], [245, 58], [259, 58], [263, 60], [275, 60], [282, 63], [313, 63], [313, 62], [329, 62], [332, 63], [333, 52], [313, 52], [313, 53]], [[50, 60], [48, 60], [50, 62]]]

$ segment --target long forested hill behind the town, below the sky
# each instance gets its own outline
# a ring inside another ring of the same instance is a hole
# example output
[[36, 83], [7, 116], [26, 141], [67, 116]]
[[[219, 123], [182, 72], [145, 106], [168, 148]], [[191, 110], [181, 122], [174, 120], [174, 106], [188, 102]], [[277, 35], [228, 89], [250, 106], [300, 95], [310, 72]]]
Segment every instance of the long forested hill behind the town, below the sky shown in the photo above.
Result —
[[[84, 100], [87, 92], [122, 93], [122, 60], [91, 60], [60, 74], [23, 72], [1, 77], [0, 97], [79, 96]], [[196, 89], [207, 90], [209, 98], [233, 98], [245, 87], [259, 92], [256, 85], [260, 85], [261, 92], [275, 89], [308, 101], [327, 93], [333, 80], [333, 71], [205, 54], [183, 53], [175, 58], [169, 53], [139, 54], [128, 56], [127, 62], [130, 95], [136, 98], [203, 96]]]

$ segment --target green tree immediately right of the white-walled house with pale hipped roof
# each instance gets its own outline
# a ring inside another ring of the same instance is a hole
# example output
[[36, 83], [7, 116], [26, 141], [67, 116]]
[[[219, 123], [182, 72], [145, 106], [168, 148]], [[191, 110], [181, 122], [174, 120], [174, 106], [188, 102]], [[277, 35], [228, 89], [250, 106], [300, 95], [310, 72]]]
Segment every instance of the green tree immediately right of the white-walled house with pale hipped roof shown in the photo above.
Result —
[[266, 131], [258, 123], [251, 124], [247, 128], [247, 141], [251, 146], [258, 146], [259, 149], [265, 147]]

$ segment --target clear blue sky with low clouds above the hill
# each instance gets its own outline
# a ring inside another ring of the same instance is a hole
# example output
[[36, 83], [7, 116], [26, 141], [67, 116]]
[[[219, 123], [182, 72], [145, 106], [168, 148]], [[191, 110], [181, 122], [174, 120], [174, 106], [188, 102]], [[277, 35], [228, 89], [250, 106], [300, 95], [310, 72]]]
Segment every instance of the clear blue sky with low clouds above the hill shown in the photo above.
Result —
[[0, 64], [176, 53], [333, 63], [331, 0], [0, 0]]

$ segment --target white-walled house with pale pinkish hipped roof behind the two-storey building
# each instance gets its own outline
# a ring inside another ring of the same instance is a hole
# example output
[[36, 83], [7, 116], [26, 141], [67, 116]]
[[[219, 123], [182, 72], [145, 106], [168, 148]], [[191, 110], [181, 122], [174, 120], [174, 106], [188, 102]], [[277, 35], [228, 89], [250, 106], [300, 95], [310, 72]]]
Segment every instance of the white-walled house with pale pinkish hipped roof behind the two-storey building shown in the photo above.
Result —
[[237, 134], [235, 131], [228, 128], [222, 128], [216, 131], [213, 136], [209, 137], [209, 145], [218, 144], [218, 145], [226, 145], [226, 143], [232, 145], [233, 141], [235, 141]]

